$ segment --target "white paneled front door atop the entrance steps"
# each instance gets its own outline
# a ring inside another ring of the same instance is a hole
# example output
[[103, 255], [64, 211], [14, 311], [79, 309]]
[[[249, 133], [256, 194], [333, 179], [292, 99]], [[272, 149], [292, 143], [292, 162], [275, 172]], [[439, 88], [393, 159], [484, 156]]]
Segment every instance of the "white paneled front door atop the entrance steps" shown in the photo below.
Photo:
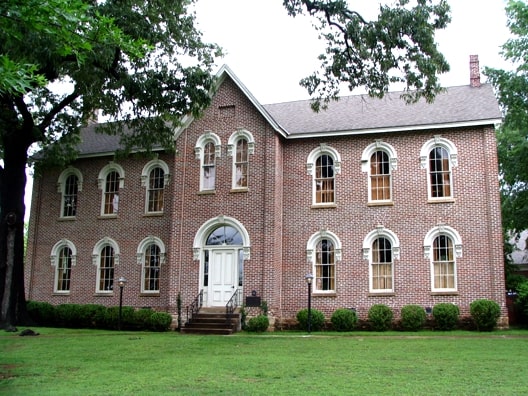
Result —
[[209, 279], [207, 305], [210, 307], [225, 306], [238, 284], [237, 251], [235, 249], [211, 250]]

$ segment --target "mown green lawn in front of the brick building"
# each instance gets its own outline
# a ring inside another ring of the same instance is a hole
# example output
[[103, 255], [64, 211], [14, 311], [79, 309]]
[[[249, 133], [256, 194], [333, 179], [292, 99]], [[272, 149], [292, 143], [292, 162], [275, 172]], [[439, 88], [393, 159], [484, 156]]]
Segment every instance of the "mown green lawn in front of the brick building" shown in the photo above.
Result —
[[6, 395], [524, 395], [528, 331], [0, 333]]

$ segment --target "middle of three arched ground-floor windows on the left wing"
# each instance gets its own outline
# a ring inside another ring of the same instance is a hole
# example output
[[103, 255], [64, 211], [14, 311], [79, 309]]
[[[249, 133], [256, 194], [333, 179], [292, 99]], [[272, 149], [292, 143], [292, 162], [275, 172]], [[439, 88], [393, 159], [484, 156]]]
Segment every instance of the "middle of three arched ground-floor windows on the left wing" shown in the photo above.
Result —
[[111, 238], [100, 240], [95, 245], [92, 260], [97, 266], [96, 293], [112, 293], [115, 267], [119, 263], [117, 243]]

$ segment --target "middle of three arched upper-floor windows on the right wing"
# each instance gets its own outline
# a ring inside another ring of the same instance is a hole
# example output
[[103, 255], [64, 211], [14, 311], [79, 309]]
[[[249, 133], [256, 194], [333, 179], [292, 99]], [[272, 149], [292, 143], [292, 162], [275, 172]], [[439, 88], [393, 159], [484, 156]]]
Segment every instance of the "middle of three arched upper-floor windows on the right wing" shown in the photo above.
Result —
[[376, 140], [363, 151], [361, 170], [368, 173], [368, 200], [372, 204], [392, 202], [392, 171], [396, 169], [396, 150], [381, 140]]

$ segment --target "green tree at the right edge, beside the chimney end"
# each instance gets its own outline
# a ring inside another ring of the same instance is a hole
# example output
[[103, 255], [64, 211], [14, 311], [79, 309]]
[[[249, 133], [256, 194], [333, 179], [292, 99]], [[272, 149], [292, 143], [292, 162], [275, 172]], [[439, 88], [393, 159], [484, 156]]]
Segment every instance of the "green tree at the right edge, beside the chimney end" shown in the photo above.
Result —
[[504, 122], [497, 132], [501, 174], [502, 219], [505, 235], [528, 228], [528, 5], [510, 1], [506, 7], [512, 38], [502, 57], [512, 70], [485, 68], [497, 91]]

